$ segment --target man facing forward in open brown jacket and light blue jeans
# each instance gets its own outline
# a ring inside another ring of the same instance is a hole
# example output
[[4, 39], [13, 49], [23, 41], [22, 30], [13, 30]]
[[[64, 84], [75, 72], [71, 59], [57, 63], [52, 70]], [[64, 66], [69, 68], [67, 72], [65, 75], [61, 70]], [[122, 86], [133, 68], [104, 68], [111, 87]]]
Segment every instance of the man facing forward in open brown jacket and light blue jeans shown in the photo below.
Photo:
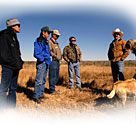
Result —
[[63, 58], [68, 63], [68, 72], [69, 72], [69, 88], [74, 87], [73, 81], [73, 69], [75, 70], [76, 76], [76, 86], [81, 90], [81, 81], [80, 81], [80, 71], [79, 71], [79, 62], [81, 61], [81, 51], [79, 47], [75, 44], [76, 38], [70, 37], [70, 43], [63, 50]]

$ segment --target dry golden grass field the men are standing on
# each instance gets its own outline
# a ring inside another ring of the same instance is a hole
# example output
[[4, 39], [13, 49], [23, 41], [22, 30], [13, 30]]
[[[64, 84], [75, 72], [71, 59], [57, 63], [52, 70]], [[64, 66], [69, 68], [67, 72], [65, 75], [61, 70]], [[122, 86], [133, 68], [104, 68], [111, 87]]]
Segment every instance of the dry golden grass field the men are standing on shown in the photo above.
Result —
[[[100, 65], [99, 65], [100, 64]], [[0, 68], [1, 71], [1, 68]], [[1, 73], [0, 73], [1, 74]], [[135, 64], [125, 65], [125, 78], [130, 79], [135, 75]], [[111, 109], [115, 105], [121, 106], [118, 101], [106, 98], [112, 89], [112, 74], [109, 64], [82, 62], [80, 76], [82, 91], [68, 88], [67, 64], [61, 63], [59, 81], [56, 90], [59, 95], [48, 94], [48, 75], [45, 84], [45, 96], [48, 99], [41, 104], [33, 101], [34, 81], [36, 76], [35, 63], [25, 62], [19, 73], [17, 88], [17, 109], [30, 111], [56, 111], [56, 112], [92, 112], [94, 110]], [[75, 81], [75, 77], [74, 77]], [[75, 81], [76, 82], [76, 81]], [[130, 102], [128, 102], [130, 103]]]

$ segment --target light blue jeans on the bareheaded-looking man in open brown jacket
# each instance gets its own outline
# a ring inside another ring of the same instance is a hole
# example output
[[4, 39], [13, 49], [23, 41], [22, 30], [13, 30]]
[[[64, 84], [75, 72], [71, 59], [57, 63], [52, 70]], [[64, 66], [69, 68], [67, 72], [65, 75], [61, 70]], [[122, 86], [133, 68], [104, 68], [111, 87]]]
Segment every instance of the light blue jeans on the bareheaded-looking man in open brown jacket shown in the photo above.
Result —
[[68, 63], [68, 72], [69, 72], [69, 84], [70, 84], [70, 88], [74, 87], [73, 69], [75, 70], [76, 86], [78, 88], [80, 88], [81, 87], [81, 81], [80, 81], [79, 62], [77, 62], [77, 63], [69, 62]]

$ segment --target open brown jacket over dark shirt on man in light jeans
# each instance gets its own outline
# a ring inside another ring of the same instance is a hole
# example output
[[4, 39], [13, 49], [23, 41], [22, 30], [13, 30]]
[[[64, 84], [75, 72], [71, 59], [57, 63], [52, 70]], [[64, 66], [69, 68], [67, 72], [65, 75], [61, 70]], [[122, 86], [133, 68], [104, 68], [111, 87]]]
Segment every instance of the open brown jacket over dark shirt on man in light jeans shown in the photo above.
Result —
[[76, 62], [76, 61], [81, 61], [81, 51], [80, 48], [75, 45], [76, 52], [77, 52], [77, 60], [76, 60], [76, 55], [74, 53], [74, 50], [71, 48], [70, 45], [67, 45], [64, 50], [63, 50], [63, 58], [66, 62]]

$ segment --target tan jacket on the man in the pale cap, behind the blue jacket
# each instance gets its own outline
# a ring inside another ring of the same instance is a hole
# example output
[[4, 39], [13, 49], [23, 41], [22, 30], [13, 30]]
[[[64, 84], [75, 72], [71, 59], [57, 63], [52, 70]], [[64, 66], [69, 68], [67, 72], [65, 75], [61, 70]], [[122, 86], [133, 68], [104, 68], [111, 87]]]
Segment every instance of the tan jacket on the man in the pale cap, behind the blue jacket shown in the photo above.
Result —
[[60, 61], [62, 59], [62, 55], [59, 45], [57, 43], [53, 43], [52, 40], [48, 40], [48, 41], [51, 49], [52, 60]]

